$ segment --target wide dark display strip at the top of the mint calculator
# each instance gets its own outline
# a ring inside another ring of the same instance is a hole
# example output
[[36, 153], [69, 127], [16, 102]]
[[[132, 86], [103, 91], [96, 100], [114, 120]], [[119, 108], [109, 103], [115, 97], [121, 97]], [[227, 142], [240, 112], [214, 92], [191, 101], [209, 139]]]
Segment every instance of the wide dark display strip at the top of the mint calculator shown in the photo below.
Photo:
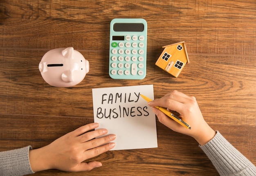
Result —
[[113, 29], [116, 32], [142, 32], [144, 31], [143, 23], [115, 23]]

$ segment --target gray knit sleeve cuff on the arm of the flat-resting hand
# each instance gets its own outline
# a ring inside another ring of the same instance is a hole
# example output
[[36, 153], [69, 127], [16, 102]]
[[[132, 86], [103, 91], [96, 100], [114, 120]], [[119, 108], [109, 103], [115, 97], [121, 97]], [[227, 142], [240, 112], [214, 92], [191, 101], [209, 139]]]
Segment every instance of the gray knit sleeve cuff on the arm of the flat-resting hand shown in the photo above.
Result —
[[23, 176], [34, 174], [29, 164], [29, 149], [32, 149], [31, 146], [0, 152], [0, 175]]

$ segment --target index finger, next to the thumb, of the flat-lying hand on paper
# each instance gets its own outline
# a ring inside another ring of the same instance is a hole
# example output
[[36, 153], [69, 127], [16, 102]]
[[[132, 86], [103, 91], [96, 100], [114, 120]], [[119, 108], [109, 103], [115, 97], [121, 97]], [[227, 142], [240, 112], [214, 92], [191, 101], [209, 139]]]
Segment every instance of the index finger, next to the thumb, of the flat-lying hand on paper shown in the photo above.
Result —
[[85, 160], [88, 158], [93, 158], [95, 156], [98, 156], [100, 154], [103, 154], [106, 151], [109, 151], [110, 149], [115, 147], [115, 143], [108, 143], [90, 150], [85, 151]]

